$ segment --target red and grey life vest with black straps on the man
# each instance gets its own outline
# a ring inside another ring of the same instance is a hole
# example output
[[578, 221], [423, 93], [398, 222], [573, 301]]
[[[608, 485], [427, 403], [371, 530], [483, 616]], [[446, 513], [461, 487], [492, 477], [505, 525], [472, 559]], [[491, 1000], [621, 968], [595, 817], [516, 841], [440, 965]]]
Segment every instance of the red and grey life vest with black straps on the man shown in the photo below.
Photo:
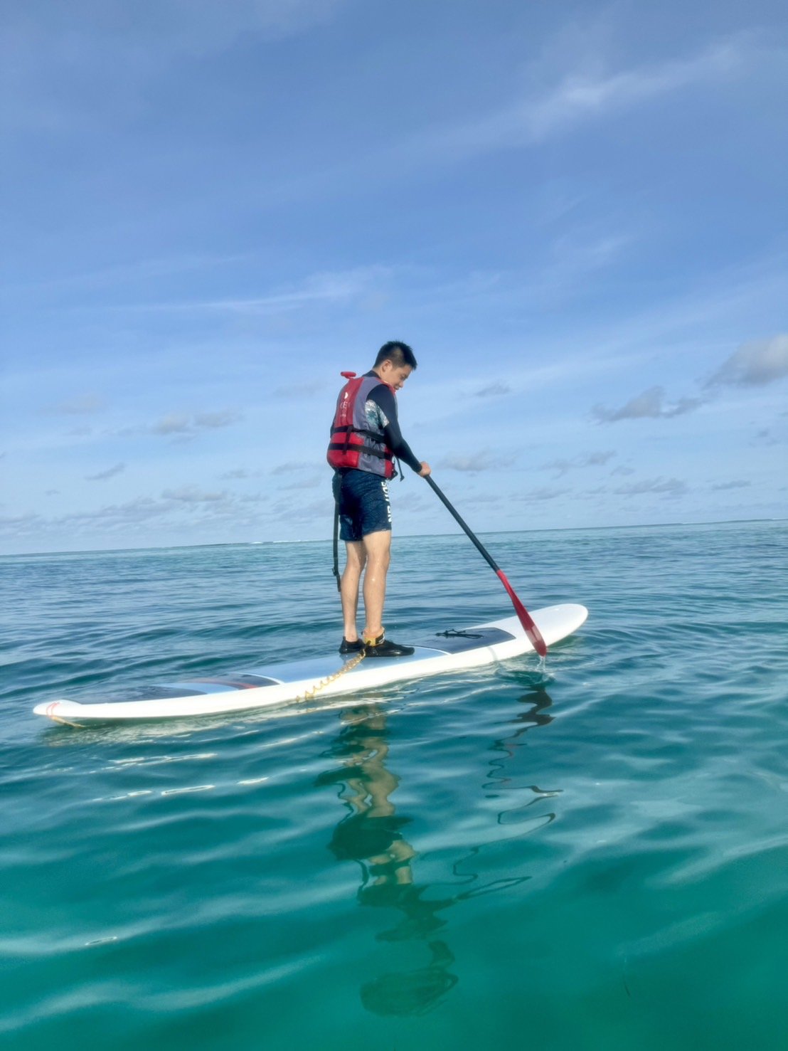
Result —
[[[341, 375], [348, 382], [336, 399], [326, 459], [335, 471], [354, 468], [393, 478], [394, 454], [386, 445], [382, 430], [370, 428], [366, 410], [369, 392], [382, 379], [379, 376], [357, 376], [355, 372], [343, 372]], [[391, 385], [386, 386], [394, 392]]]

